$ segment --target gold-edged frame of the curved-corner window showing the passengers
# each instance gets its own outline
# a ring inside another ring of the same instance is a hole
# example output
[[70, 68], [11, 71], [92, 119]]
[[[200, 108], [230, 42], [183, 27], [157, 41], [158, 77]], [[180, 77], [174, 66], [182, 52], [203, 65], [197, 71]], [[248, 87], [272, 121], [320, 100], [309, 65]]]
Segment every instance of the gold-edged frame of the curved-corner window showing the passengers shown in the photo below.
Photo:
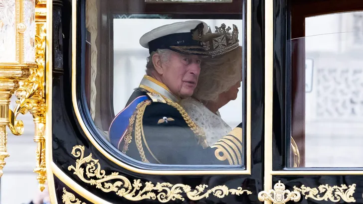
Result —
[[[210, 3], [209, 3], [210, 4]], [[243, 6], [242, 6], [243, 5]], [[205, 174], [205, 173], [211, 173], [211, 174], [250, 174], [250, 169], [251, 169], [251, 162], [250, 159], [247, 159], [247, 157], [250, 157], [251, 155], [251, 150], [250, 150], [250, 139], [247, 138], [246, 136], [246, 114], [250, 114], [246, 112], [246, 104], [247, 104], [247, 100], [246, 100], [246, 72], [247, 72], [247, 63], [246, 63], [246, 55], [247, 55], [247, 44], [246, 44], [246, 0], [243, 0], [242, 3], [242, 9], [243, 12], [239, 13], [238, 15], [241, 16], [242, 18], [242, 26], [243, 26], [243, 34], [242, 34], [242, 45], [244, 45], [242, 47], [242, 75], [243, 75], [243, 89], [241, 89], [241, 91], [243, 92], [242, 94], [242, 113], [241, 115], [243, 116], [244, 120], [243, 120], [243, 132], [242, 132], [242, 138], [245, 141], [243, 144], [243, 151], [244, 151], [244, 165], [162, 165], [162, 164], [147, 164], [147, 163], [143, 163], [140, 161], [137, 161], [133, 158], [127, 157], [125, 155], [122, 155], [121, 152], [119, 152], [119, 150], [117, 150], [115, 147], [113, 147], [111, 145], [111, 143], [104, 137], [102, 136], [102, 133], [100, 132], [100, 130], [96, 127], [91, 115], [90, 115], [90, 111], [88, 108], [88, 104], [87, 104], [87, 98], [86, 98], [86, 87], [85, 87], [85, 74], [86, 74], [86, 70], [85, 70], [85, 46], [86, 46], [86, 37], [87, 37], [87, 33], [86, 33], [86, 25], [85, 25], [85, 0], [80, 0], [77, 2], [77, 7], [76, 7], [76, 15], [72, 15], [72, 18], [75, 18], [75, 20], [72, 20], [72, 22], [76, 22], [77, 24], [79, 24], [80, 26], [77, 26], [77, 29], [75, 30], [75, 32], [77, 33], [76, 36], [80, 36], [80, 39], [76, 38], [76, 50], [72, 50], [72, 52], [74, 52], [72, 55], [75, 55], [75, 57], [73, 59], [76, 59], [75, 61], [72, 60], [72, 86], [75, 86], [75, 90], [76, 92], [74, 93], [72, 91], [72, 95], [75, 95], [74, 97], [72, 97], [72, 101], [74, 105], [74, 110], [75, 112], [79, 112], [79, 116], [78, 114], [76, 114], [77, 116], [77, 120], [78, 123], [81, 124], [81, 129], [83, 130], [83, 133], [86, 134], [86, 136], [92, 141], [92, 144], [94, 144], [94, 146], [99, 149], [101, 148], [102, 152], [106, 152], [107, 154], [111, 155], [111, 157], [114, 158], [114, 160], [118, 161], [118, 163], [124, 164], [126, 166], [129, 167], [134, 167], [136, 169], [140, 169], [140, 170], [147, 170], [147, 171], [155, 171], [156, 174], [158, 171], [162, 170], [162, 172], [168, 172], [168, 173], [173, 173], [175, 172], [176, 174], [185, 174], [186, 171], [192, 171], [194, 172], [193, 174]], [[74, 6], [74, 5], [72, 5]], [[120, 13], [110, 13], [107, 15], [107, 23], [111, 22], [111, 17], [115, 16], [115, 15], [119, 15]], [[187, 15], [187, 14], [186, 14]], [[213, 15], [213, 14], [210, 14]], [[215, 14], [214, 14], [215, 15]], [[243, 17], [242, 17], [243, 16]], [[179, 18], [178, 18], [179, 19]], [[190, 19], [190, 18], [188, 18]], [[112, 26], [110, 26], [111, 29]], [[109, 39], [108, 42], [110, 42], [109, 40], [112, 38], [112, 34], [110, 33], [110, 30], [108, 30], [109, 32]], [[72, 39], [72, 41], [74, 41], [74, 39]], [[110, 43], [112, 44], [112, 43]], [[80, 52], [79, 52], [80, 50]], [[113, 52], [113, 49], [109, 49], [109, 52]], [[112, 61], [113, 59], [111, 58], [110, 61]], [[113, 62], [112, 62], [113, 63]], [[112, 68], [113, 67], [109, 67]], [[75, 72], [75, 73], [73, 73]], [[112, 108], [113, 109], [113, 108]], [[85, 126], [85, 128], [83, 127], [83, 125]], [[99, 149], [100, 150], [100, 149]], [[248, 162], [249, 161], [249, 162]], [[119, 164], [120, 165], [120, 164]], [[163, 174], [163, 173], [160, 173]], [[186, 173], [188, 174], [188, 173]]]

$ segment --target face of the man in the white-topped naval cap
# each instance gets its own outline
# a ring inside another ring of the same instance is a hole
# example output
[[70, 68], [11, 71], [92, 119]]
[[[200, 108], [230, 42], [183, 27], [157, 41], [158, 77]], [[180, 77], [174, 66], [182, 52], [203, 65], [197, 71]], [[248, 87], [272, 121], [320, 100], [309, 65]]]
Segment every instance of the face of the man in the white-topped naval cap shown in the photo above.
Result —
[[162, 63], [162, 82], [182, 99], [193, 95], [200, 73], [200, 58], [171, 51], [169, 61]]

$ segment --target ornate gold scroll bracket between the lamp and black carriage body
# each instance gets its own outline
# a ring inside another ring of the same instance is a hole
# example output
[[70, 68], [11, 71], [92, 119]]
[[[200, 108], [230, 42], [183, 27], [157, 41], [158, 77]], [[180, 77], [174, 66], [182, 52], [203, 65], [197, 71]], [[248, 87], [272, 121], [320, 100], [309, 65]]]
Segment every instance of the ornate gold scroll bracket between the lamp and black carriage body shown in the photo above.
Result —
[[[30, 76], [19, 81], [19, 88], [16, 91], [16, 104], [13, 111], [9, 111], [9, 129], [14, 135], [21, 135], [24, 131], [23, 122], [16, 117], [26, 114], [28, 111], [33, 116], [35, 124], [34, 142], [37, 143], [36, 165], [34, 172], [38, 174], [36, 179], [40, 191], [44, 190], [46, 182], [45, 167], [45, 95], [44, 95], [44, 68], [45, 68], [45, 17], [43, 6], [46, 2], [38, 1], [35, 5], [35, 55], [36, 67], [29, 68]], [[43, 4], [43, 5], [41, 5]]]

